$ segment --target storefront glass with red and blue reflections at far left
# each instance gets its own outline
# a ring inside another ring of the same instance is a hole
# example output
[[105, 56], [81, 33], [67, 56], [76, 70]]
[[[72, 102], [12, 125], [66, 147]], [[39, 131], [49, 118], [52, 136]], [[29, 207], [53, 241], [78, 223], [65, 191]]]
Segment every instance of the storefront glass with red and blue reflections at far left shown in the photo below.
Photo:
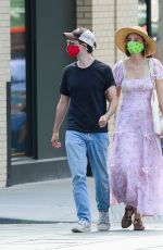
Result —
[[11, 0], [11, 148], [26, 155], [25, 0]]

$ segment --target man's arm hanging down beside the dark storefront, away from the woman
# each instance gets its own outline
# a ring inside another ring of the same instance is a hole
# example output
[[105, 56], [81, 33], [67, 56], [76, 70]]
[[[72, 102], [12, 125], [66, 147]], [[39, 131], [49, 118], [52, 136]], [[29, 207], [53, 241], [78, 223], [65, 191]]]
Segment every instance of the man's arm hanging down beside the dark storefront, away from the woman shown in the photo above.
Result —
[[66, 111], [68, 109], [68, 104], [70, 104], [70, 97], [61, 95], [59, 103], [57, 105], [55, 121], [54, 121], [53, 133], [51, 138], [51, 143], [53, 148], [61, 147], [61, 142], [59, 141], [59, 130], [64, 120], [64, 116], [66, 114]]

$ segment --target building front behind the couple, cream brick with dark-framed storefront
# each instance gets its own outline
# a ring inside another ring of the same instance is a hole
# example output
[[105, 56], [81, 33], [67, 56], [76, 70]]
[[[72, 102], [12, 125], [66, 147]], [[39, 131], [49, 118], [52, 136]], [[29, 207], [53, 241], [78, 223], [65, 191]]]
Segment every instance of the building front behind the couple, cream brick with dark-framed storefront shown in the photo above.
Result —
[[[1, 0], [0, 1], [0, 186], [70, 175], [65, 149], [50, 139], [63, 67], [70, 63], [63, 32], [91, 29], [93, 55], [112, 66], [124, 55], [115, 30], [146, 21], [150, 1]], [[145, 7], [145, 8], [143, 8]], [[147, 23], [147, 22], [146, 22]], [[114, 128], [109, 124], [110, 137]], [[66, 121], [61, 129], [64, 145]]]

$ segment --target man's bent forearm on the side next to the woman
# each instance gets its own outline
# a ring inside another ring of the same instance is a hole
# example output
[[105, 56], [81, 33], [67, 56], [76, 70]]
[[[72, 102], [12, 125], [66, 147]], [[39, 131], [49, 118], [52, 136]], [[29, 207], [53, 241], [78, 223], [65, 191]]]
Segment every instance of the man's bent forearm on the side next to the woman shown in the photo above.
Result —
[[105, 127], [110, 117], [115, 113], [116, 108], [117, 108], [117, 92], [116, 92], [116, 87], [112, 86], [108, 88], [106, 90], [106, 99], [109, 101], [109, 108], [108, 111], [104, 115], [102, 115], [99, 120], [99, 126], [100, 127]]

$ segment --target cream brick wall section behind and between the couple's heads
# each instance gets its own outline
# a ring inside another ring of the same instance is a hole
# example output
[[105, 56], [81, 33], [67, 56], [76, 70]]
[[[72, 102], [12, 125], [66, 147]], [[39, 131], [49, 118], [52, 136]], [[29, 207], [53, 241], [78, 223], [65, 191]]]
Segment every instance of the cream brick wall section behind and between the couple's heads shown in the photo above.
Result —
[[[98, 47], [93, 57], [112, 66], [124, 58], [114, 43], [115, 30], [138, 23], [138, 0], [76, 0], [77, 26], [93, 32]], [[112, 139], [115, 115], [109, 123]]]

